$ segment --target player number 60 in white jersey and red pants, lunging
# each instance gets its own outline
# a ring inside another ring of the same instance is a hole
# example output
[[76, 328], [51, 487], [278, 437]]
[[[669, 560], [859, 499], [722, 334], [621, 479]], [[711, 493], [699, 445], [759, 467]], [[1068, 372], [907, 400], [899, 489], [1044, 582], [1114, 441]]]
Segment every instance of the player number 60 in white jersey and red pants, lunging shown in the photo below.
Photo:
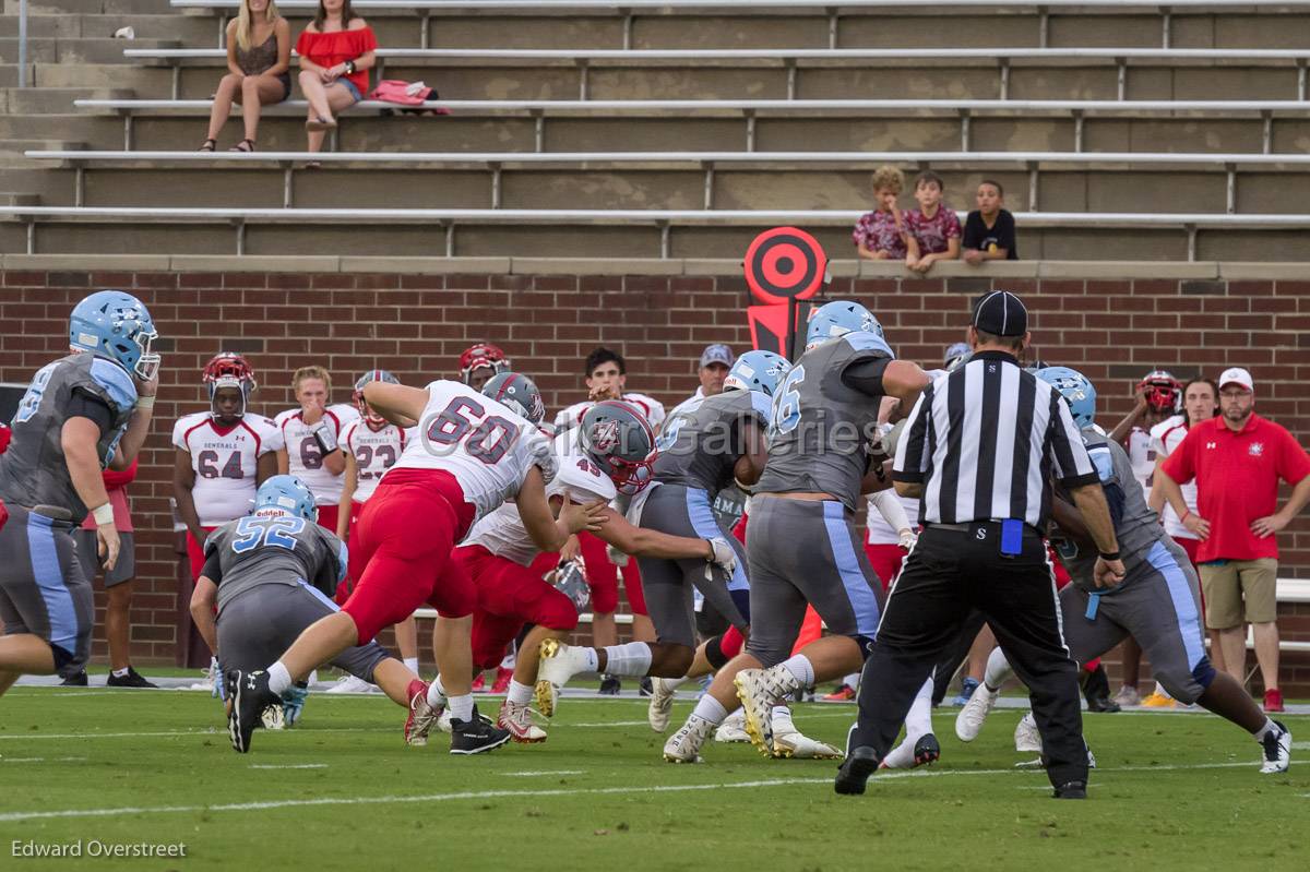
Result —
[[[531, 382], [529, 382], [531, 385]], [[536, 386], [531, 394], [541, 403]], [[364, 503], [354, 530], [350, 576], [355, 589], [341, 611], [307, 628], [267, 670], [234, 670], [229, 715], [232, 746], [250, 749], [261, 712], [321, 663], [369, 642], [383, 627], [403, 621], [424, 602], [438, 609], [443, 644], [438, 668], [445, 678], [410, 695], [406, 737], [426, 736], [449, 702], [451, 753], [499, 748], [507, 731], [474, 715], [473, 656], [469, 644], [477, 589], [451, 559], [456, 542], [485, 515], [514, 499], [532, 541], [544, 551], [603, 524], [603, 503], [565, 503], [557, 520], [546, 501], [555, 473], [549, 440], [510, 406], [453, 381], [426, 388], [371, 381], [364, 399], [393, 424], [419, 422], [396, 466]]]

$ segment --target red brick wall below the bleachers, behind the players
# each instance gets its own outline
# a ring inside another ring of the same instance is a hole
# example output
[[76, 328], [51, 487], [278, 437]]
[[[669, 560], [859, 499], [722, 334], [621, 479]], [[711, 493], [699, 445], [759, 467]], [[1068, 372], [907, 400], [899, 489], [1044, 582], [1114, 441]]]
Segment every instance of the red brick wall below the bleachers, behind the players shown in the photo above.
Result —
[[[1187, 264], [1184, 264], [1187, 266]], [[1158, 268], [1158, 267], [1157, 267]], [[723, 270], [730, 272], [730, 270]], [[963, 338], [972, 296], [993, 284], [1026, 299], [1038, 356], [1093, 378], [1106, 420], [1129, 406], [1131, 384], [1163, 367], [1179, 377], [1248, 367], [1259, 411], [1310, 437], [1310, 282], [1280, 279], [862, 279], [837, 278], [829, 296], [878, 313], [897, 354], [934, 364]], [[580, 393], [580, 360], [620, 348], [629, 386], [667, 403], [694, 390], [696, 357], [710, 342], [749, 344], [736, 275], [403, 275], [385, 272], [94, 272], [7, 270], [0, 284], [0, 381], [26, 382], [64, 350], [67, 316], [93, 288], [139, 295], [159, 326], [165, 369], [156, 422], [131, 488], [139, 596], [134, 657], [172, 663], [178, 604], [169, 516], [178, 415], [204, 407], [199, 369], [220, 350], [246, 355], [261, 382], [254, 410], [291, 405], [291, 371], [326, 365], [333, 399], [383, 367], [402, 381], [449, 376], [470, 342], [496, 342], [536, 378], [548, 407]], [[1310, 524], [1280, 537], [1285, 575], [1310, 575]], [[102, 604], [101, 604], [102, 605]], [[1310, 609], [1288, 610], [1288, 635], [1310, 639]], [[97, 631], [96, 653], [103, 656]], [[1310, 691], [1310, 659], [1286, 659], [1285, 682]]]

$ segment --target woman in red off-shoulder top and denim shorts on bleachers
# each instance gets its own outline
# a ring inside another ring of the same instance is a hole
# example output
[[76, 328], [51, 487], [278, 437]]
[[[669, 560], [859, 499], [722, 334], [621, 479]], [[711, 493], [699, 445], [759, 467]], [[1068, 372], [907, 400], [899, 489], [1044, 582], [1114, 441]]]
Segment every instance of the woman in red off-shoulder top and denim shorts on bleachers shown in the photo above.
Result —
[[300, 90], [309, 101], [309, 151], [322, 149], [324, 134], [337, 128], [335, 113], [354, 106], [368, 93], [377, 37], [355, 14], [350, 0], [318, 0], [318, 12], [300, 38]]

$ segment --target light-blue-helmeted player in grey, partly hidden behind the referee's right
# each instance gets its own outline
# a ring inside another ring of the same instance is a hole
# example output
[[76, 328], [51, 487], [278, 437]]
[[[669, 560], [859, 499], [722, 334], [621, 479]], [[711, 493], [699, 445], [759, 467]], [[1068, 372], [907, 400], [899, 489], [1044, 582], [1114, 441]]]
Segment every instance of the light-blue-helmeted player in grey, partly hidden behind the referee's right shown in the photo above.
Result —
[[[1048, 367], [1036, 374], [1055, 385], [1073, 410], [1087, 453], [1100, 474], [1128, 568], [1117, 587], [1110, 590], [1096, 587], [1093, 579], [1096, 546], [1068, 494], [1057, 486], [1052, 513], [1064, 537], [1060, 554], [1073, 576], [1073, 584], [1060, 592], [1069, 653], [1078, 663], [1087, 663], [1132, 634], [1150, 657], [1157, 680], [1175, 699], [1199, 703], [1251, 733], [1260, 745], [1262, 772], [1288, 771], [1292, 733], [1260, 711], [1246, 689], [1227, 673], [1217, 672], [1205, 656], [1196, 572], [1187, 554], [1169, 538], [1159, 517], [1146, 505], [1128, 453], [1094, 428], [1095, 388], [1082, 373], [1066, 367]], [[1003, 653], [993, 652], [993, 659], [996, 663], [988, 664], [986, 683], [975, 691], [958, 718], [956, 733], [962, 741], [977, 736], [996, 704], [996, 689], [1009, 677]]]

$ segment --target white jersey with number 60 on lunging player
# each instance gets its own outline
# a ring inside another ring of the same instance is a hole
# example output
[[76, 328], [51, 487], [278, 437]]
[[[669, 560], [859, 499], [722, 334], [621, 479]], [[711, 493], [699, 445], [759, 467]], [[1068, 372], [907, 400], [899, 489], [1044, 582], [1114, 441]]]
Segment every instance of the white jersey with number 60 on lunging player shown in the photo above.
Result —
[[550, 440], [508, 406], [458, 381], [434, 381], [414, 439], [392, 469], [439, 469], [455, 475], [477, 517], [519, 492], [540, 466], [546, 483], [558, 458]]

